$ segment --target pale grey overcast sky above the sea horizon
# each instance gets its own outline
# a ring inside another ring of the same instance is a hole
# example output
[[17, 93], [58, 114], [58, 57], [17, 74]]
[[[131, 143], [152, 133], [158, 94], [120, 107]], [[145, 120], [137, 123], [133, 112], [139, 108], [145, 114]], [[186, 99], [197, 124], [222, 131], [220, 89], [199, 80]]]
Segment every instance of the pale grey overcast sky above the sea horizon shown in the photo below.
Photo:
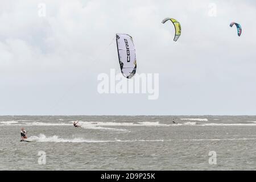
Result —
[[[1, 1], [0, 115], [255, 115], [255, 17], [252, 0]], [[137, 73], [159, 73], [158, 100], [97, 92], [119, 71], [115, 33], [133, 36]]]

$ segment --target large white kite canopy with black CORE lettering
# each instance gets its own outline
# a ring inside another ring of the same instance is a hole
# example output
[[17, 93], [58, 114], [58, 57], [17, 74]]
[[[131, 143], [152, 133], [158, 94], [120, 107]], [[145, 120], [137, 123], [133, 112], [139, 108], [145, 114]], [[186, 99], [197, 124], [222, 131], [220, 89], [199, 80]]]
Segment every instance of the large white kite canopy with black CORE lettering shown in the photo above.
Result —
[[116, 34], [117, 52], [121, 72], [124, 77], [131, 78], [136, 73], [136, 53], [133, 38], [127, 34]]

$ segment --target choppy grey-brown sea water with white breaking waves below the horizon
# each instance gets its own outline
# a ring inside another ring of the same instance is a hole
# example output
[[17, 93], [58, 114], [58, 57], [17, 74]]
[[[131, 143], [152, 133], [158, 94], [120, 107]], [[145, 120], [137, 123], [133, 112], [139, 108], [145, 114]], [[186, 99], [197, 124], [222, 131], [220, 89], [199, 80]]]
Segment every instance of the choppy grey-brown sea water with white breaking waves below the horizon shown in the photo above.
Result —
[[0, 130], [0, 170], [256, 169], [256, 116], [1, 116]]

